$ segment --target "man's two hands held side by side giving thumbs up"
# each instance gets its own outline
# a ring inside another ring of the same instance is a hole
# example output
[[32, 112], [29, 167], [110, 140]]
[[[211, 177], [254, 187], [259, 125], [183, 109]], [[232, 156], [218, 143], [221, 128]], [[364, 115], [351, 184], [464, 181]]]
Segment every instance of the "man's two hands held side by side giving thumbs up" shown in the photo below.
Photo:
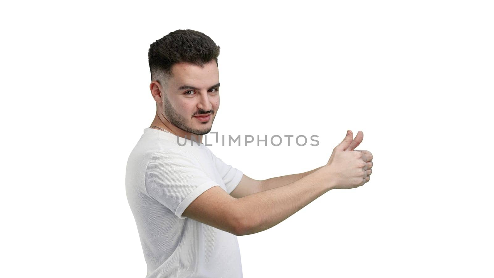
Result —
[[329, 178], [333, 180], [333, 188], [349, 189], [364, 185], [371, 180], [372, 154], [368, 150], [355, 150], [364, 139], [359, 131], [355, 139], [348, 130], [345, 139], [334, 147], [326, 166]]

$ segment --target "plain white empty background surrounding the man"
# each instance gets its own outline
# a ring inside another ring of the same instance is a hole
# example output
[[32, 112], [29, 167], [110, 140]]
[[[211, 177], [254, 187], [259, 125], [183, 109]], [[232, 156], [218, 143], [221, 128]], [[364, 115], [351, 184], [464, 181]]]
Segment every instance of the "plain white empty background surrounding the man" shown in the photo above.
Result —
[[221, 47], [212, 131], [318, 146], [211, 150], [254, 179], [327, 163], [346, 130], [371, 181], [240, 236], [244, 277], [493, 277], [490, 1], [2, 4], [1, 277], [146, 274], [125, 196], [149, 127], [147, 51]]

